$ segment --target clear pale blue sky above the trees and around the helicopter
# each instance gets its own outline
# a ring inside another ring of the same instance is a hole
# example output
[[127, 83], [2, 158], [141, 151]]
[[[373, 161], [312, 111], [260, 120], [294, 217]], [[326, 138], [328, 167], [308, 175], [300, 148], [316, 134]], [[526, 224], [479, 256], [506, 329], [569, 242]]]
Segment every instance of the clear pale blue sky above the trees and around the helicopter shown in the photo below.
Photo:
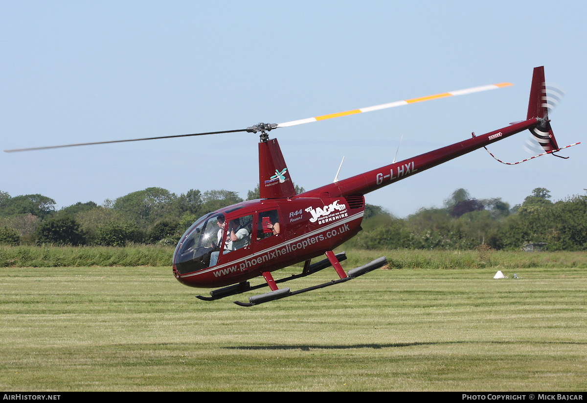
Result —
[[[524, 120], [532, 69], [565, 90], [559, 146], [583, 141], [583, 1], [0, 2], [2, 150], [244, 129], [510, 82], [514, 86], [269, 133], [311, 190]], [[488, 147], [532, 154], [527, 133]], [[230, 133], [0, 153], [0, 190], [57, 208], [147, 187], [258, 184], [258, 135]], [[484, 149], [365, 195], [397, 217], [471, 197], [522, 203], [585, 194], [587, 143], [506, 165]]]

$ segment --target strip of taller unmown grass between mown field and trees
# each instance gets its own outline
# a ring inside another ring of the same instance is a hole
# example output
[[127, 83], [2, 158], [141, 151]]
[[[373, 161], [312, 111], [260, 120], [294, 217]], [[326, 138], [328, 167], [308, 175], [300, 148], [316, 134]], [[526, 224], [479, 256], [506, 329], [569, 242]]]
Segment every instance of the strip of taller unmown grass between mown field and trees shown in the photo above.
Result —
[[[345, 250], [344, 247], [340, 250]], [[174, 247], [109, 246], [0, 246], [0, 267], [168, 266]], [[348, 251], [350, 264], [387, 256], [391, 268], [576, 267], [587, 268], [584, 252], [512, 252], [494, 250], [356, 250]], [[301, 266], [299, 266], [301, 267]]]

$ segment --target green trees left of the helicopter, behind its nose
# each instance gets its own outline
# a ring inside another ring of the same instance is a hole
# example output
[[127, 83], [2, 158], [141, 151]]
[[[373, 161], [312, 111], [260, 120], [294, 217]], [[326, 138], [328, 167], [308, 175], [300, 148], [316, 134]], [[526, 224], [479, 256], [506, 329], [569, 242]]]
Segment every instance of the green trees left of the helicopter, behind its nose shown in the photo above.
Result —
[[[257, 185], [247, 200], [258, 198]], [[55, 200], [42, 194], [11, 197], [0, 190], [0, 244], [171, 246], [199, 217], [242, 201], [237, 192], [224, 189], [177, 195], [149, 187], [101, 206], [78, 202], [56, 210]]]

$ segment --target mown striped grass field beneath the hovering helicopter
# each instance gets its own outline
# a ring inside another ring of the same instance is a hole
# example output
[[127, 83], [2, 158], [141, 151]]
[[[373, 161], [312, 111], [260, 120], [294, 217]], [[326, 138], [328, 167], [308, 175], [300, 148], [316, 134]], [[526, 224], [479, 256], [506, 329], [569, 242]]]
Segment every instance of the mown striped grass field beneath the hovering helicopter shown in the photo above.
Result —
[[243, 308], [170, 267], [0, 268], [0, 389], [585, 391], [585, 269], [500, 270], [376, 270]]

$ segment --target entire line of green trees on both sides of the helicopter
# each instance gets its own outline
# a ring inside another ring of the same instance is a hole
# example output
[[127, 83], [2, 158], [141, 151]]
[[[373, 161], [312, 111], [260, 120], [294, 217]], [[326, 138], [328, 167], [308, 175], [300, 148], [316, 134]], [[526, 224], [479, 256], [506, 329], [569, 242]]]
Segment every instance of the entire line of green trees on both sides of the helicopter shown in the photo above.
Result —
[[[296, 186], [296, 191], [303, 189]], [[247, 194], [247, 200], [258, 197], [258, 186]], [[501, 198], [477, 200], [457, 189], [442, 207], [420, 209], [406, 219], [367, 204], [363, 231], [349, 246], [519, 250], [544, 243], [548, 250], [586, 250], [587, 196], [550, 199], [547, 189], [537, 188], [511, 207]], [[0, 191], [0, 244], [171, 246], [198, 217], [239, 202], [238, 194], [229, 190], [192, 189], [177, 195], [150, 187], [101, 206], [78, 202], [56, 210], [55, 200], [41, 194], [11, 197]]]

